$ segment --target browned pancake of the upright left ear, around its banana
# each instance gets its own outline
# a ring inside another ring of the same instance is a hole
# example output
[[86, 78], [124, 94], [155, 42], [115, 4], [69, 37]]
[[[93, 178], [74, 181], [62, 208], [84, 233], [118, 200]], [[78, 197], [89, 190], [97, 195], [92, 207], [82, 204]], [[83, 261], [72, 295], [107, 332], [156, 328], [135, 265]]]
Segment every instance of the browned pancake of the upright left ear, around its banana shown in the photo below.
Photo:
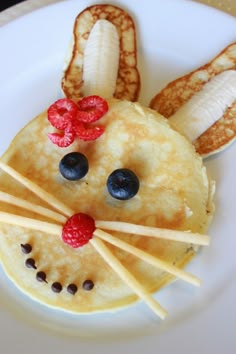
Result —
[[75, 19], [73, 43], [67, 54], [61, 81], [66, 97], [78, 100], [83, 96], [83, 60], [85, 46], [95, 22], [100, 19], [116, 26], [120, 39], [120, 59], [114, 97], [137, 101], [140, 76], [137, 68], [136, 30], [132, 17], [113, 5], [93, 5], [83, 10]]

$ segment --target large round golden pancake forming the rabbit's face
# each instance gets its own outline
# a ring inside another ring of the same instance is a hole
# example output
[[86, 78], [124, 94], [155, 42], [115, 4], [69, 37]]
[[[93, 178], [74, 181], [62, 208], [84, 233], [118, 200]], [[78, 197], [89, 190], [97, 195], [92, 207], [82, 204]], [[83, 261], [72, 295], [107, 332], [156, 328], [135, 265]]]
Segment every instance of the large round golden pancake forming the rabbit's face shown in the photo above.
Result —
[[[128, 101], [110, 101], [109, 111], [99, 124], [105, 132], [97, 140], [77, 140], [68, 148], [58, 148], [47, 137], [53, 128], [46, 113], [42, 113], [19, 132], [2, 161], [75, 213], [86, 213], [95, 220], [204, 233], [212, 213], [210, 182], [202, 159], [187, 139], [171, 129], [158, 113]], [[61, 158], [71, 151], [82, 152], [89, 162], [86, 176], [73, 182], [64, 179], [58, 169]], [[116, 200], [107, 191], [107, 178], [117, 168], [128, 168], [139, 178], [139, 191], [130, 200]], [[0, 184], [2, 191], [48, 207], [3, 171]], [[0, 204], [0, 209], [51, 221], [33, 210], [5, 203]], [[189, 243], [110, 233], [179, 267], [195, 254]], [[3, 223], [0, 234], [0, 257], [8, 276], [23, 292], [45, 305], [92, 313], [114, 310], [137, 299], [90, 243], [73, 249], [62, 241], [60, 234]], [[27, 254], [22, 252], [25, 244], [32, 247]], [[147, 291], [153, 292], [171, 279], [139, 258], [108, 243], [107, 247]], [[34, 260], [33, 267], [32, 261], [31, 267], [26, 266], [28, 258]], [[38, 272], [44, 272], [44, 281], [37, 279]], [[90, 291], [82, 287], [85, 280], [94, 284]], [[62, 290], [53, 291], [53, 283], [60, 283]], [[76, 293], [68, 292], [70, 284], [77, 286]]]

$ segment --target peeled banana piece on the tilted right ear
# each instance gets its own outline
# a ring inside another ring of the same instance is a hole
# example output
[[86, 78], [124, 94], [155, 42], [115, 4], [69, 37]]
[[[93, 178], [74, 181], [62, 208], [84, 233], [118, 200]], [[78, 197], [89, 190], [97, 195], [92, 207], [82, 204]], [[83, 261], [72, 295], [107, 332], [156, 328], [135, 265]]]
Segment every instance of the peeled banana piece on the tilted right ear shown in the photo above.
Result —
[[204, 85], [169, 121], [194, 142], [219, 120], [236, 100], [236, 71], [226, 70]]

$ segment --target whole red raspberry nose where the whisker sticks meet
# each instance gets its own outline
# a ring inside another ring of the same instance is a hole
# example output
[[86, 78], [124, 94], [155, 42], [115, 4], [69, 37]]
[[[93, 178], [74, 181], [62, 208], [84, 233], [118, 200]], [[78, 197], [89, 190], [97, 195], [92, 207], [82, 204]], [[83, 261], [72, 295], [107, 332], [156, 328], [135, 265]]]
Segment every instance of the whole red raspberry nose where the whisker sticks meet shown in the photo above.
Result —
[[73, 248], [78, 248], [93, 237], [95, 221], [87, 214], [78, 213], [71, 216], [62, 229], [63, 241]]

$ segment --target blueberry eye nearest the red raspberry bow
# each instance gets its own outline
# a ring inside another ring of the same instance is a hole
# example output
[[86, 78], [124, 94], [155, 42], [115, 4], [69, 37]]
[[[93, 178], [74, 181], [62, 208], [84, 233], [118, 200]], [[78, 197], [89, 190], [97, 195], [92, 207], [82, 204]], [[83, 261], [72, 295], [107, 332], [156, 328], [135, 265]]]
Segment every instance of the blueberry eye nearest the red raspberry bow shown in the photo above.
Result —
[[70, 181], [83, 178], [88, 169], [88, 160], [80, 152], [70, 152], [61, 159], [59, 164], [62, 176]]

